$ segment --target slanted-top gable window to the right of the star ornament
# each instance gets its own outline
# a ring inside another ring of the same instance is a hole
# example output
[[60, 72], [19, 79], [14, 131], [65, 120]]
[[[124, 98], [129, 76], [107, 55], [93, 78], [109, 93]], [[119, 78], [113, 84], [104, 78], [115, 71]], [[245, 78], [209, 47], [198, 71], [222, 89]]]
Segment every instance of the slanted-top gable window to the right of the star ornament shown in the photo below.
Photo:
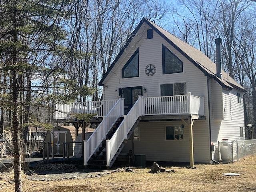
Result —
[[162, 45], [163, 74], [183, 72], [183, 62]]

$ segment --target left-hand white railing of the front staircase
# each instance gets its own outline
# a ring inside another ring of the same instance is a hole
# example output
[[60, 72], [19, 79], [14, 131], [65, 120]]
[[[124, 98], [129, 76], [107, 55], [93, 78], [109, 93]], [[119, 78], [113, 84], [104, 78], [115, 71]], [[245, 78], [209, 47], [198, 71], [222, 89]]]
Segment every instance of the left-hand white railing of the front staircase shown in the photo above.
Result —
[[84, 164], [87, 165], [88, 160], [95, 150], [100, 146], [102, 140], [106, 139], [106, 134], [110, 131], [116, 120], [124, 115], [124, 98], [120, 98], [110, 112], [103, 118], [102, 122], [93, 132], [88, 140], [84, 140]]

